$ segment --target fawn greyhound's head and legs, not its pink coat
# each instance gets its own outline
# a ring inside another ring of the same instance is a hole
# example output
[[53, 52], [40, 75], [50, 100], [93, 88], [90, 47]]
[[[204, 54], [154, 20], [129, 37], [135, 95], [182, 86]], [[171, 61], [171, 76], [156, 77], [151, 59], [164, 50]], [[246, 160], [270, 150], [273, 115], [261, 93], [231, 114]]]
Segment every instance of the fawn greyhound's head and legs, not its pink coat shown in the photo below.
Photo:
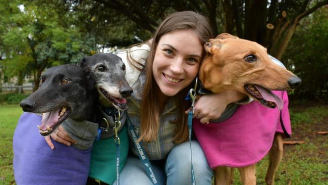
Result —
[[[256, 42], [223, 33], [210, 39], [204, 47], [208, 56], [200, 66], [199, 79], [203, 87], [211, 92], [239, 91], [266, 107], [281, 110], [283, 100], [271, 90], [294, 89], [301, 83], [301, 79], [292, 72], [272, 62], [266, 49]], [[281, 139], [275, 138], [274, 142], [282, 146]], [[282, 153], [276, 153], [276, 157], [270, 158], [270, 163], [275, 165], [268, 169], [268, 184], [274, 183], [274, 174], [282, 157]], [[238, 169], [243, 184], [256, 184], [255, 164]], [[215, 169], [215, 184], [230, 184], [229, 177], [222, 175], [229, 176], [226, 171], [226, 167]]]

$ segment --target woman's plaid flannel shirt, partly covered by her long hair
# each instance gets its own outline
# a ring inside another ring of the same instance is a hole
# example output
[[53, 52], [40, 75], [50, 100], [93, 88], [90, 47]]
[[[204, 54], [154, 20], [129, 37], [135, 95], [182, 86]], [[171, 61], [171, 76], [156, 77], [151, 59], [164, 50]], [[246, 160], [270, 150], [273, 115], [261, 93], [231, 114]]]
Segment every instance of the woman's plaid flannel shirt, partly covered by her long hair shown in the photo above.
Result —
[[[145, 74], [143, 72], [140, 73], [138, 80], [136, 83], [132, 86], [133, 88], [133, 94], [131, 98], [128, 100], [128, 109], [127, 113], [129, 114], [130, 120], [135, 128], [135, 131], [139, 133], [140, 128], [140, 104], [141, 104], [141, 95], [142, 90], [144, 87], [145, 82]], [[185, 101], [185, 100], [181, 100]], [[245, 102], [239, 102], [239, 103], [247, 103]], [[178, 116], [177, 110], [176, 110], [176, 104], [173, 101], [173, 99], [170, 99], [165, 108], [163, 109], [162, 113], [159, 117], [159, 130], [157, 133], [157, 137], [155, 141], [152, 142], [142, 142], [142, 146], [145, 149], [145, 152], [149, 158], [149, 160], [160, 160], [160, 159], [166, 159], [172, 148], [174, 147], [173, 143], [173, 134], [175, 125], [170, 123], [170, 121], [173, 121]], [[237, 104], [230, 104], [228, 105], [225, 112], [221, 115], [220, 118], [217, 120], [211, 120], [211, 122], [221, 122], [226, 119], [228, 119], [230, 116], [233, 115], [233, 113], [238, 108]], [[218, 123], [220, 124], [220, 123]], [[133, 143], [130, 143], [130, 147], [134, 154], [137, 155], [137, 151], [133, 145]]]

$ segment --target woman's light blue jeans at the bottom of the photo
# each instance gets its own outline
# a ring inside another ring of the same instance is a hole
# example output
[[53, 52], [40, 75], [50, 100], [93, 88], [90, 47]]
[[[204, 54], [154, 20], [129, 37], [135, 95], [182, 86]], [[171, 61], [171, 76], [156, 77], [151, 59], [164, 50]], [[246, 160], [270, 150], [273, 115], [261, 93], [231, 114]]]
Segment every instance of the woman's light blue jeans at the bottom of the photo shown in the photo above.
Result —
[[[196, 184], [211, 184], [212, 170], [209, 168], [202, 149], [197, 141], [191, 142], [192, 159]], [[161, 164], [152, 162], [153, 171], [159, 185], [190, 185], [191, 184], [191, 159], [189, 142], [175, 146], [166, 161]], [[116, 181], [114, 182], [116, 184]], [[143, 164], [137, 156], [129, 156], [120, 173], [121, 185], [152, 185]]]

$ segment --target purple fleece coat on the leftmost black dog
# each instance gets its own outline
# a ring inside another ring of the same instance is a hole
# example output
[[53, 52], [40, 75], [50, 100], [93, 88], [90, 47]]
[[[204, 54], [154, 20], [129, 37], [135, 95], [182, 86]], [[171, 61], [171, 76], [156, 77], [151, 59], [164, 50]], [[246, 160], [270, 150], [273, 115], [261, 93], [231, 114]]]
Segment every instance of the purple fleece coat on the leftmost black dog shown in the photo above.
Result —
[[52, 140], [55, 149], [51, 150], [36, 126], [41, 118], [24, 112], [17, 124], [13, 139], [17, 184], [85, 184], [91, 148], [77, 150]]

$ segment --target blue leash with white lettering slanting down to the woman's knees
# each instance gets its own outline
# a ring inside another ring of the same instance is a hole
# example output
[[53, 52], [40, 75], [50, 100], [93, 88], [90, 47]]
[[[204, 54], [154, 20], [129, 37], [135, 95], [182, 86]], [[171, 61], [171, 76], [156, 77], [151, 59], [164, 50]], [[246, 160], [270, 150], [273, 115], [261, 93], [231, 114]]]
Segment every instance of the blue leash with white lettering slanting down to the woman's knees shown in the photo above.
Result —
[[143, 164], [143, 167], [145, 168], [147, 175], [149, 179], [151, 180], [152, 184], [158, 184], [157, 179], [155, 177], [155, 174], [152, 170], [151, 163], [147, 157], [147, 154], [145, 152], [145, 149], [142, 147], [141, 142], [137, 143], [137, 140], [139, 138], [138, 133], [134, 131], [134, 126], [132, 125], [129, 116], [127, 115], [127, 121], [128, 121], [128, 131], [130, 136], [132, 137], [133, 145], [138, 151], [138, 156]]

